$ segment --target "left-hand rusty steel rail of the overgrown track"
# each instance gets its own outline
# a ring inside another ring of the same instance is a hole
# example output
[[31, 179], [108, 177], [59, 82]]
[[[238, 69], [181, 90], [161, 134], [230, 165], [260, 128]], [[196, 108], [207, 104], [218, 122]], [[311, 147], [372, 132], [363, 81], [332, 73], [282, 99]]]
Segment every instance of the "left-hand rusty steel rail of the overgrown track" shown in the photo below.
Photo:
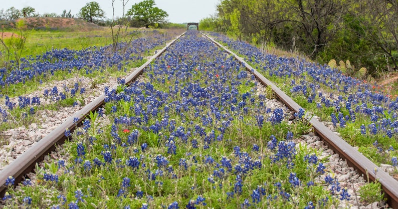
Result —
[[[177, 36], [174, 40], [166, 44], [166, 46], [152, 56], [147, 62], [134, 70], [130, 75], [125, 78], [126, 84], [131, 84], [155, 58], [159, 57], [171, 44], [183, 36], [186, 32]], [[81, 110], [76, 112], [72, 117], [69, 117], [64, 123], [43, 137], [40, 141], [26, 150], [22, 155], [18, 156], [13, 162], [4, 167], [0, 171], [0, 196], [3, 197], [6, 193], [8, 186], [6, 180], [9, 176], [15, 178], [15, 184], [21, 182], [26, 174], [32, 172], [36, 167], [36, 163], [44, 159], [44, 156], [55, 150], [56, 145], [63, 144], [67, 139], [65, 130], [69, 129], [71, 132], [76, 127], [80, 126], [82, 121], [87, 118], [90, 112], [95, 111], [104, 104], [105, 94], [100, 95], [95, 100], [85, 105]], [[74, 118], [79, 118], [74, 122]]]

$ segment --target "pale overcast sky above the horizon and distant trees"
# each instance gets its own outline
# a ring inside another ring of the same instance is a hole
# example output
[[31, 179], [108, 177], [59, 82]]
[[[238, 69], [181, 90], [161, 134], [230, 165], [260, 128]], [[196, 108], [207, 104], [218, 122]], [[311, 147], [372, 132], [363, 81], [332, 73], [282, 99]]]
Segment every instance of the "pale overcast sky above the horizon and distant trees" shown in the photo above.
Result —
[[[107, 18], [112, 17], [111, 0], [0, 0], [0, 10], [7, 10], [15, 7], [22, 10], [24, 7], [33, 7], [39, 14], [56, 13], [60, 15], [63, 10], [72, 10], [73, 15], [79, 13], [80, 9], [89, 2], [97, 2], [101, 9], [105, 11]], [[140, 0], [130, 0], [126, 6], [126, 11]], [[168, 14], [168, 21], [171, 23], [199, 22], [203, 18], [216, 13], [216, 5], [220, 0], [155, 0], [156, 7], [164, 10]], [[121, 17], [121, 0], [115, 1], [115, 17]]]

